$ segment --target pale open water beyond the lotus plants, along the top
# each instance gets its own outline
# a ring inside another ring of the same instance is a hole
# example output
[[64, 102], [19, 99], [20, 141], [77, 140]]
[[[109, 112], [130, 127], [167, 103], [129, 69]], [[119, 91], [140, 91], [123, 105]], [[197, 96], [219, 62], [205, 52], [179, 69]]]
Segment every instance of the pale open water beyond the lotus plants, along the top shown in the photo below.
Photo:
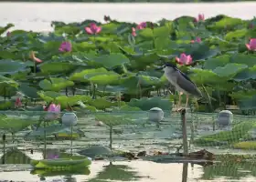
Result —
[[85, 19], [103, 21], [110, 15], [120, 21], [157, 21], [181, 15], [206, 17], [224, 14], [242, 19], [255, 15], [256, 2], [211, 4], [80, 4], [80, 3], [0, 3], [0, 25], [13, 23], [16, 29], [49, 31], [50, 22], [74, 22]]

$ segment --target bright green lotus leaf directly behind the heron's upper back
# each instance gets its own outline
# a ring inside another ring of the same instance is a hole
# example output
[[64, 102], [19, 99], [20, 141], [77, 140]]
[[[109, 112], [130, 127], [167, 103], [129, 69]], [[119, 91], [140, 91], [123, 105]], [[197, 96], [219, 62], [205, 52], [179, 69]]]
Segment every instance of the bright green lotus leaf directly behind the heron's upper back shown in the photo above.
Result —
[[[215, 84], [219, 82], [219, 76], [211, 70], [194, 68], [192, 71], [193, 74], [189, 77], [197, 85]], [[226, 82], [226, 80], [224, 80], [224, 82]]]

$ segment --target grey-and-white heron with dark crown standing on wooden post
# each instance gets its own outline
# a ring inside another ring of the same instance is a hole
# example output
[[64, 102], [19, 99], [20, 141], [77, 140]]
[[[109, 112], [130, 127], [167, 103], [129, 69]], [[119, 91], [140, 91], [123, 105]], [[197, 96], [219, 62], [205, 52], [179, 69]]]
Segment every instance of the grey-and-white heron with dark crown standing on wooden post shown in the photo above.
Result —
[[157, 70], [164, 70], [165, 77], [167, 80], [176, 87], [178, 92], [178, 104], [177, 110], [181, 105], [181, 95], [187, 95], [186, 108], [188, 104], [189, 96], [196, 96], [197, 98], [202, 97], [201, 91], [197, 88], [197, 86], [190, 80], [190, 78], [181, 72], [175, 65], [171, 63], [166, 63], [164, 66], [156, 68]]

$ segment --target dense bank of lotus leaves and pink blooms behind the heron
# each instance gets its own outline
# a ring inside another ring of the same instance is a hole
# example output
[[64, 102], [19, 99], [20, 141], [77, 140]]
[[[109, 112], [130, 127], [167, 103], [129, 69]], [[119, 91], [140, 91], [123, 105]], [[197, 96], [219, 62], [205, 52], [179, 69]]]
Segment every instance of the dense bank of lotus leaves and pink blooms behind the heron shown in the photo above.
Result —
[[125, 104], [131, 98], [163, 96], [168, 83], [155, 66], [165, 62], [186, 72], [214, 107], [255, 105], [256, 20], [198, 15], [135, 25], [104, 19], [52, 22], [49, 34], [1, 27], [0, 108], [13, 107], [19, 91], [61, 109], [131, 109]]

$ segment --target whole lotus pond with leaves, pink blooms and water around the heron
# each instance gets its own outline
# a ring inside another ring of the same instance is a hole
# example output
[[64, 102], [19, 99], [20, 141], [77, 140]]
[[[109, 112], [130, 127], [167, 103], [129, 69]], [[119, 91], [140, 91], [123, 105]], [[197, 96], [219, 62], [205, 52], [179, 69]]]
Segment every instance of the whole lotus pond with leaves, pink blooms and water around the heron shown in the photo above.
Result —
[[[248, 110], [256, 99], [256, 20], [104, 19], [52, 22], [48, 34], [0, 28], [0, 179], [165, 181], [176, 171], [176, 181], [255, 181], [256, 117]], [[155, 70], [166, 62], [207, 98], [190, 99], [188, 146], [214, 160], [176, 160], [185, 157], [176, 90]], [[216, 111], [227, 105], [240, 109], [232, 124], [218, 126]], [[158, 123], [148, 119], [155, 106], [165, 111]], [[68, 113], [75, 126], [65, 124]]]

